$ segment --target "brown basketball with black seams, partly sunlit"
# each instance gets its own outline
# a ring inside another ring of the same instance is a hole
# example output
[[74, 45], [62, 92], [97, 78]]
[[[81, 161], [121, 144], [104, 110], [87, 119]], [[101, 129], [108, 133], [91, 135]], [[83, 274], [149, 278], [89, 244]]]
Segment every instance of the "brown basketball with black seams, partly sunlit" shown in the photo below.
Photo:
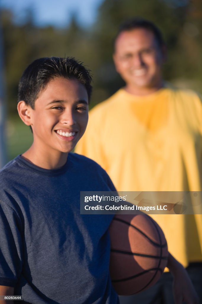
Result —
[[146, 214], [116, 215], [109, 227], [110, 275], [119, 295], [132, 295], [154, 285], [167, 265], [164, 233]]

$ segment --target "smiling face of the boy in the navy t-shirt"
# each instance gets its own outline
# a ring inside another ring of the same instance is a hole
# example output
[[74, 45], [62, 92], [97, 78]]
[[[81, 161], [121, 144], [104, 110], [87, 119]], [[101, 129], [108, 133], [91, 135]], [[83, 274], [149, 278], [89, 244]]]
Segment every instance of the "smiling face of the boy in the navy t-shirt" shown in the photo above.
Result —
[[34, 146], [45, 153], [70, 152], [88, 123], [88, 94], [78, 80], [55, 78], [28, 107]]

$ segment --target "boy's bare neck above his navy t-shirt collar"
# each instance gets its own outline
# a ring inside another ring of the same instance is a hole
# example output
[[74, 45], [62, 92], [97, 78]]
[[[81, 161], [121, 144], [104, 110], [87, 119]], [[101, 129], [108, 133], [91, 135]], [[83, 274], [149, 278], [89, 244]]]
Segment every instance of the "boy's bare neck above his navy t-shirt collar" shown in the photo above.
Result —
[[61, 168], [66, 164], [68, 153], [56, 151], [55, 155], [44, 155], [41, 151], [35, 151], [33, 145], [22, 154], [22, 157], [29, 161], [31, 164], [34, 164], [38, 167], [48, 170], [54, 170]]

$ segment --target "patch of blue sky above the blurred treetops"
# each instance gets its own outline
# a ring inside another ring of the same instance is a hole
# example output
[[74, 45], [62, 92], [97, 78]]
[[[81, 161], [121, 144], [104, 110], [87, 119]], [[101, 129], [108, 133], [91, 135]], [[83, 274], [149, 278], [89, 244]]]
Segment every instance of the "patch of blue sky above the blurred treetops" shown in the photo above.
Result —
[[65, 27], [74, 13], [81, 26], [91, 26], [103, 0], [0, 0], [0, 8], [11, 9], [15, 21], [23, 23], [27, 9], [33, 9], [38, 26]]

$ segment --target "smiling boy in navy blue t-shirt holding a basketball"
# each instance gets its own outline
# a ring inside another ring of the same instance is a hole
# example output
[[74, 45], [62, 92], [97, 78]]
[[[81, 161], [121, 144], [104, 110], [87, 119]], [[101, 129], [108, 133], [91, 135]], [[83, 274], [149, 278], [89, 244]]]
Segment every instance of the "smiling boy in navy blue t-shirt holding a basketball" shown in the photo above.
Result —
[[[0, 174], [0, 295], [27, 304], [118, 303], [109, 277], [113, 215], [80, 215], [80, 191], [115, 188], [98, 164], [69, 153], [85, 131], [90, 95], [91, 76], [72, 58], [35, 60], [22, 75], [18, 113], [34, 140]], [[198, 303], [181, 265], [169, 256], [167, 266], [177, 303]]]

